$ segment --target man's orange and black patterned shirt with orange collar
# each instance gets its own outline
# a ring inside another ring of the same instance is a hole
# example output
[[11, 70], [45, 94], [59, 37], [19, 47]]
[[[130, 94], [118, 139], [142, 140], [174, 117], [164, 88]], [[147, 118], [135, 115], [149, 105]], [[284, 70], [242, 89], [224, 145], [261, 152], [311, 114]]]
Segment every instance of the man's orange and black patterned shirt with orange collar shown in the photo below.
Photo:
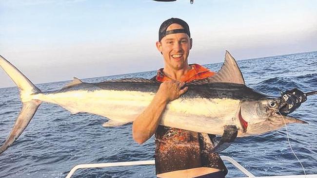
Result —
[[[190, 66], [192, 69], [182, 76], [181, 82], [189, 83], [215, 74], [198, 64]], [[164, 82], [171, 79], [164, 75], [163, 69], [159, 69], [152, 80]], [[209, 137], [213, 140], [215, 136]], [[197, 167], [217, 168], [225, 174], [228, 172], [218, 153], [207, 149], [200, 133], [158, 125], [155, 138], [156, 174]]]

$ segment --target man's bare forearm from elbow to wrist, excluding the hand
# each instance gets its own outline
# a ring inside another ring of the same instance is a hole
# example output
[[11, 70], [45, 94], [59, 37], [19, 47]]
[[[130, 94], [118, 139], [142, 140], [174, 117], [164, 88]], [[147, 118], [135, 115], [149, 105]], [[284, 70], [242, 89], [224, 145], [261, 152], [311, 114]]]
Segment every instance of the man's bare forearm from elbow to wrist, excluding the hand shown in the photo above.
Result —
[[133, 139], [136, 142], [142, 144], [155, 133], [167, 103], [157, 94], [151, 104], [136, 118], [132, 126]]

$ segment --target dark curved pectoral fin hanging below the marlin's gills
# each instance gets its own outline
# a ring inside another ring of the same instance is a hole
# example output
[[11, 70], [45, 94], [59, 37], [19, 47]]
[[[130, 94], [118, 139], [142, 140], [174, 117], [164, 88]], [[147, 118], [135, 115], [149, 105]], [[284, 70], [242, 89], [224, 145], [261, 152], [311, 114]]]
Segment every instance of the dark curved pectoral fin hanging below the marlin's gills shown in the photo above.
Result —
[[221, 152], [228, 148], [230, 144], [235, 141], [238, 135], [238, 128], [236, 125], [225, 125], [221, 139], [214, 142], [214, 152]]

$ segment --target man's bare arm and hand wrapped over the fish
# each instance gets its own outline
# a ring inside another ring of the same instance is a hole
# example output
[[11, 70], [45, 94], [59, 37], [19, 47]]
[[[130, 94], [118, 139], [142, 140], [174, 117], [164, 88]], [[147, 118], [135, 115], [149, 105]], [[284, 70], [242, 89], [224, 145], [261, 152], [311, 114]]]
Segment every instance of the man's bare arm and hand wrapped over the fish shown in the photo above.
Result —
[[136, 118], [132, 126], [133, 139], [142, 144], [156, 131], [160, 117], [168, 102], [177, 99], [187, 91], [187, 87], [181, 89], [184, 82], [175, 80], [163, 82], [158, 89], [150, 105]]

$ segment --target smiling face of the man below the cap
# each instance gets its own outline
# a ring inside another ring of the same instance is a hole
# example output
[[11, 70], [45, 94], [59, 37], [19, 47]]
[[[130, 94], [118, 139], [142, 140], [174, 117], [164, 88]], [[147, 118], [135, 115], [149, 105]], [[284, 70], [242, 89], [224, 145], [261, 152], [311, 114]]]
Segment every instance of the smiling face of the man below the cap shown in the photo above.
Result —
[[[183, 29], [177, 23], [168, 26], [166, 31]], [[172, 70], [187, 69], [187, 58], [189, 50], [192, 48], [192, 39], [185, 33], [171, 34], [164, 36], [161, 41], [157, 42], [158, 51], [163, 54], [164, 67]]]

